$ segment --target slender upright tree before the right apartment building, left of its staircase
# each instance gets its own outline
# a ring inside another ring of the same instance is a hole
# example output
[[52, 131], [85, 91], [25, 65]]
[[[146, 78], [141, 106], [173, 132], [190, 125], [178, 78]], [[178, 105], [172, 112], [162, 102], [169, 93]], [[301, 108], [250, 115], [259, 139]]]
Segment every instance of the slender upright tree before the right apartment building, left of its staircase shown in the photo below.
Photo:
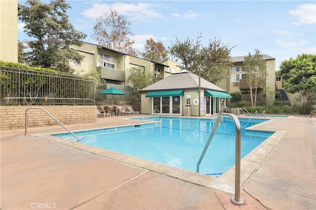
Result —
[[[245, 82], [249, 86], [251, 106], [256, 107], [257, 90], [266, 79], [267, 67], [263, 55], [258, 49], [255, 49], [255, 54], [244, 57]], [[254, 97], [254, 98], [253, 98]]]

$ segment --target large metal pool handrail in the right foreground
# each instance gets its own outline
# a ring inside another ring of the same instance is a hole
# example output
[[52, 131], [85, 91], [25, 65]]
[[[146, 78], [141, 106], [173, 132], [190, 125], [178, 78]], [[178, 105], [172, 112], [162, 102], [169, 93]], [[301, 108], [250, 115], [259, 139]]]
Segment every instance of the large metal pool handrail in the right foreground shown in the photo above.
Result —
[[237, 205], [243, 204], [243, 200], [240, 198], [240, 149], [241, 149], [241, 131], [240, 131], [240, 123], [235, 114], [231, 113], [225, 113], [222, 112], [218, 115], [217, 120], [214, 124], [214, 127], [212, 129], [212, 132], [204, 146], [204, 149], [202, 151], [202, 154], [197, 162], [197, 173], [199, 171], [199, 165], [205, 155], [205, 152], [215, 134], [215, 131], [220, 123], [220, 121], [223, 119], [224, 116], [228, 116], [233, 118], [236, 128], [236, 156], [235, 156], [235, 197], [232, 198], [232, 202]]

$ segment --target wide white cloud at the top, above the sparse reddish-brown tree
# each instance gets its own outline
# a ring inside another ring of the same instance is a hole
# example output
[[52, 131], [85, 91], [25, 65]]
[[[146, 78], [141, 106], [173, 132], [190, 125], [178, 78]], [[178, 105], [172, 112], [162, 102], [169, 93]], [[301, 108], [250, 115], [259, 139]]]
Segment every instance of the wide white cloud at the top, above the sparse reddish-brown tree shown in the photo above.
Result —
[[141, 2], [137, 4], [114, 2], [112, 5], [107, 3], [94, 3], [92, 5], [92, 8], [84, 10], [82, 14], [85, 17], [95, 19], [101, 16], [104, 12], [108, 12], [110, 10], [110, 7], [116, 9], [118, 11], [118, 14], [127, 17], [129, 20], [145, 21], [149, 18], [163, 17], [155, 10], [155, 8], [159, 7], [158, 4]]

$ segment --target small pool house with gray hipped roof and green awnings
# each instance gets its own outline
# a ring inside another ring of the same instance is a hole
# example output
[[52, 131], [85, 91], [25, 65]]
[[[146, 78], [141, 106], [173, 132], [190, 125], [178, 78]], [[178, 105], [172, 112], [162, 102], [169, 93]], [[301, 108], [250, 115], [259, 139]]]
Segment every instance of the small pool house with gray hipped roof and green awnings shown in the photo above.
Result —
[[220, 113], [232, 98], [225, 90], [187, 70], [172, 74], [140, 91], [143, 113], [205, 116]]

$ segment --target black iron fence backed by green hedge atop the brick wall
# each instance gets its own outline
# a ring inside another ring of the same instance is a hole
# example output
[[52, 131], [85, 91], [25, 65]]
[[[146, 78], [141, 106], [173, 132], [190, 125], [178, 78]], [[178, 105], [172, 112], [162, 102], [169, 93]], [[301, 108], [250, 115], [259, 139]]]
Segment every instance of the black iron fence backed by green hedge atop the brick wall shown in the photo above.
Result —
[[95, 105], [94, 79], [1, 67], [0, 105]]

